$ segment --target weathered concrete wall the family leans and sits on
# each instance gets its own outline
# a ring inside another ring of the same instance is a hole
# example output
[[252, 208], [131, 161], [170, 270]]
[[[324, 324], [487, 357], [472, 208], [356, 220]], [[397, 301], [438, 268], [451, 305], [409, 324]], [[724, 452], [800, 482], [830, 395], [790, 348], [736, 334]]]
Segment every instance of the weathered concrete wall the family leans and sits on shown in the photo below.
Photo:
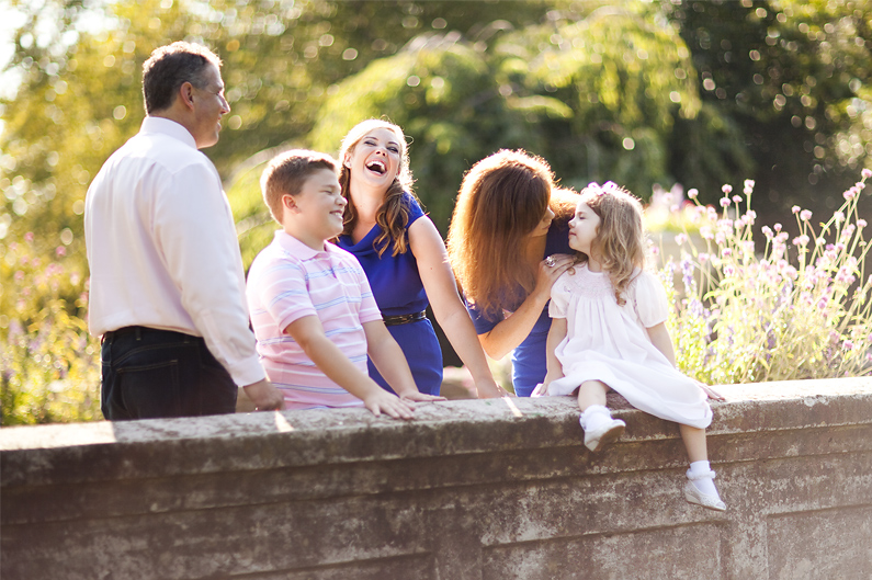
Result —
[[569, 397], [0, 430], [0, 577], [872, 578], [872, 378], [724, 386], [727, 503], [678, 428], [582, 445]]

